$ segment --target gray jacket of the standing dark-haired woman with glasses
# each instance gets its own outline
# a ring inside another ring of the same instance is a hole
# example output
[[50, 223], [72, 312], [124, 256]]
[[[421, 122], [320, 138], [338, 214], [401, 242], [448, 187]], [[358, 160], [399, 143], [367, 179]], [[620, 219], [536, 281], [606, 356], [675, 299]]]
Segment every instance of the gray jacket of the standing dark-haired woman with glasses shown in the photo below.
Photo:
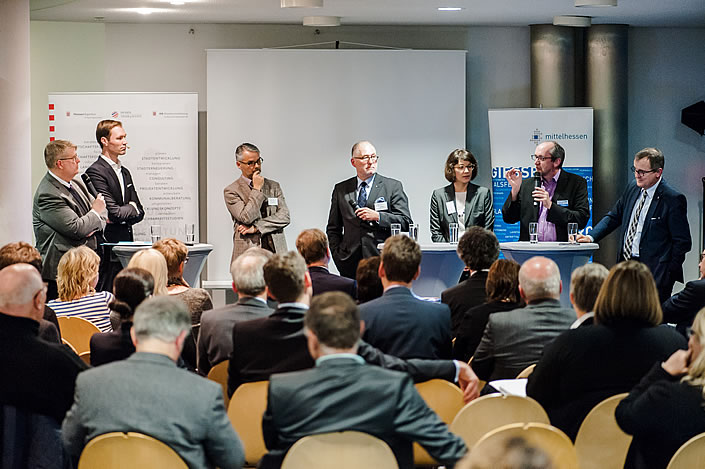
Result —
[[[448, 184], [436, 189], [431, 195], [431, 241], [434, 243], [450, 242], [448, 225], [458, 222], [458, 211], [448, 214], [447, 203], [455, 204], [455, 186]], [[465, 195], [465, 227], [481, 226], [494, 229], [494, 209], [492, 194], [486, 187], [469, 183]]]

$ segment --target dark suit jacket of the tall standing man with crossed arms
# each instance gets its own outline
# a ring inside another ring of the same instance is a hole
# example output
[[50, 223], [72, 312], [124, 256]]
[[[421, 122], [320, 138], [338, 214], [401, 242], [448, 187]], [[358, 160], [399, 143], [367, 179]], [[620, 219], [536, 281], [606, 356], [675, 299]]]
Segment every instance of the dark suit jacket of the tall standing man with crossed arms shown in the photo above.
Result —
[[[132, 181], [130, 171], [124, 166], [121, 169], [122, 178], [125, 182], [125, 197], [122, 196], [120, 181], [115, 175], [115, 171], [98, 156], [92, 165], [86, 169], [86, 174], [91, 177], [91, 181], [99, 194], [105, 198], [105, 207], [108, 211], [108, 223], [105, 226], [105, 240], [109, 243], [120, 241], [133, 241], [132, 225], [144, 219], [144, 208], [137, 197], [137, 190]], [[134, 202], [138, 209], [130, 204]]]

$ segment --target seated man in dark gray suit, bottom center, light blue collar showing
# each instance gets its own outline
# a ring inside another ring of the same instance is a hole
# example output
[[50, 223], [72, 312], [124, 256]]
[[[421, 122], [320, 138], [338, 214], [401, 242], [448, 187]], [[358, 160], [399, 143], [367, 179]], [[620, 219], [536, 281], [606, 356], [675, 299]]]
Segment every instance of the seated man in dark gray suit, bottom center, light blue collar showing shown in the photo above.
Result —
[[358, 308], [340, 292], [314, 297], [304, 317], [316, 366], [273, 375], [262, 433], [270, 450], [262, 469], [278, 468], [297, 440], [317, 433], [355, 430], [384, 440], [400, 468], [414, 467], [418, 441], [441, 464], [453, 465], [467, 448], [428, 408], [408, 375], [368, 366], [357, 355]]

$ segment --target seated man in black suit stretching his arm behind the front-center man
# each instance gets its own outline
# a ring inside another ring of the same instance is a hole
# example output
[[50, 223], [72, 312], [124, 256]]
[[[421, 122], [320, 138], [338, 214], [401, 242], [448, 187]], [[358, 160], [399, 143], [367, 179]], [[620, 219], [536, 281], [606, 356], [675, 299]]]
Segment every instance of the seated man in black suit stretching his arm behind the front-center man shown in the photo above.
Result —
[[[238, 322], [233, 327], [233, 352], [228, 366], [228, 393], [243, 383], [268, 380], [273, 373], [311, 368], [306, 348], [304, 314], [311, 301], [311, 277], [298, 252], [277, 254], [264, 266], [267, 293], [279, 301], [270, 316]], [[264, 352], [263, 352], [264, 351]], [[366, 362], [409, 373], [415, 381], [438, 378], [456, 381], [465, 399], [477, 393], [477, 379], [467, 363], [451, 360], [402, 360], [365, 342], [357, 351]]]

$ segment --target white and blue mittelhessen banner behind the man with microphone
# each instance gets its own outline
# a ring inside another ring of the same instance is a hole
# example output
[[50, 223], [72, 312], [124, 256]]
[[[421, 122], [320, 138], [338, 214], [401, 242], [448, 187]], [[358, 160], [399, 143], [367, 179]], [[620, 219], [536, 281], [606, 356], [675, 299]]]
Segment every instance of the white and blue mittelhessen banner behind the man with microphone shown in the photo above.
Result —
[[494, 232], [499, 241], [519, 240], [519, 223], [509, 225], [502, 219], [502, 205], [511, 192], [505, 173], [518, 168], [522, 177], [533, 177], [531, 155], [537, 145], [549, 140], [555, 140], [565, 149], [563, 168], [587, 180], [590, 219], [580, 233], [589, 233], [592, 230], [592, 108], [490, 109], [488, 115]]

